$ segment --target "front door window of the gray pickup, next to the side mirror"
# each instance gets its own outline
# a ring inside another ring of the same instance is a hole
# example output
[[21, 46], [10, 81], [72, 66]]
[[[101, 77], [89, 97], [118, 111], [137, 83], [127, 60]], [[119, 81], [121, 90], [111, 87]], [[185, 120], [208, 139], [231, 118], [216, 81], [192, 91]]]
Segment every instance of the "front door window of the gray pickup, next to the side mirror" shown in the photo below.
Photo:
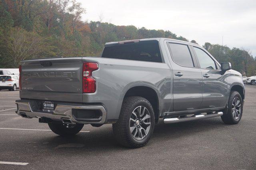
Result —
[[216, 69], [215, 61], [202, 49], [194, 47], [202, 69]]

